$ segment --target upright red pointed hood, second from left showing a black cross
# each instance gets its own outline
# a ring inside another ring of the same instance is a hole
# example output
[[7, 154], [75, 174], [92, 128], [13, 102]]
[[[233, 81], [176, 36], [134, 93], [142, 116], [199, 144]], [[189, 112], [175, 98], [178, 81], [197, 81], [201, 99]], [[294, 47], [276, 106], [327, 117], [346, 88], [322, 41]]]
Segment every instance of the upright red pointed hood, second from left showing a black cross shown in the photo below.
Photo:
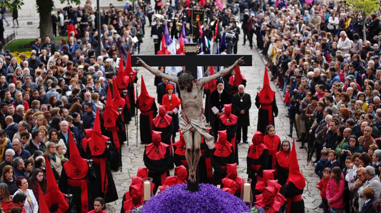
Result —
[[88, 146], [92, 155], [101, 155], [106, 149], [106, 141], [109, 138], [102, 135], [101, 122], [99, 121], [99, 109], [96, 109], [95, 121], [91, 138], [88, 140]]

